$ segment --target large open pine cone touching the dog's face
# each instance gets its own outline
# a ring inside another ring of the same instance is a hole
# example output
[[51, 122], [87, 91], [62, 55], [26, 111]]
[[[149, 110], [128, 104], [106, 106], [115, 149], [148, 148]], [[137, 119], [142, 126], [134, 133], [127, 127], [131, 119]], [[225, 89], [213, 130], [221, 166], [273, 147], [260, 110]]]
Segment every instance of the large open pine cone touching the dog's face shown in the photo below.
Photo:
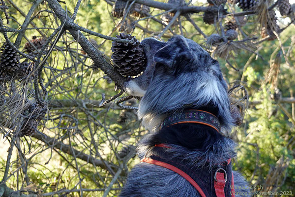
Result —
[[134, 41], [133, 44], [112, 42], [112, 59], [115, 69], [124, 76], [137, 76], [146, 68], [146, 57], [140, 42], [130, 34], [120, 33], [116, 37]]

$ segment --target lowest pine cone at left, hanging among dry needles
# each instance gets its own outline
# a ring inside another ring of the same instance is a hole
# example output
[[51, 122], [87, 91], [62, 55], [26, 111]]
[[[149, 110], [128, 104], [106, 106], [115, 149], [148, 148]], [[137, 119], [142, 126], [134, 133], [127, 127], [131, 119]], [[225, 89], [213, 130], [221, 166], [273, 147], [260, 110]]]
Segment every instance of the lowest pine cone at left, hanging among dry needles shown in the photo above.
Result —
[[29, 136], [35, 133], [40, 121], [45, 117], [47, 112], [46, 106], [38, 105], [37, 103], [30, 104], [24, 111], [25, 117], [22, 122], [20, 136]]

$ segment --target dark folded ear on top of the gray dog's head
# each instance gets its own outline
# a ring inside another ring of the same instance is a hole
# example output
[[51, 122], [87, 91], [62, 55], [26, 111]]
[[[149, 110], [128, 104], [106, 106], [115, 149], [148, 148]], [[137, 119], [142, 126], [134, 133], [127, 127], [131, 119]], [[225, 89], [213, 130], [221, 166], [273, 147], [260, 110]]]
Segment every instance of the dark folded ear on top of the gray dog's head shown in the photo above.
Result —
[[191, 51], [186, 40], [178, 35], [169, 39], [166, 45], [155, 53], [154, 61], [172, 67], [177, 62], [191, 59], [191, 57]]

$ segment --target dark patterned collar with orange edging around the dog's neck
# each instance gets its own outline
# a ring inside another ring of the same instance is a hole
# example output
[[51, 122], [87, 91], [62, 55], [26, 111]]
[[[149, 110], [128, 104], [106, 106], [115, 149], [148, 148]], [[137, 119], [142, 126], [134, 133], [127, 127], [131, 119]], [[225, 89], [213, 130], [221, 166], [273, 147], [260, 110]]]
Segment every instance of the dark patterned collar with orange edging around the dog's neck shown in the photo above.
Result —
[[199, 123], [220, 132], [220, 122], [216, 116], [207, 111], [195, 109], [185, 110], [182, 113], [177, 113], [166, 118], [160, 128], [181, 123]]

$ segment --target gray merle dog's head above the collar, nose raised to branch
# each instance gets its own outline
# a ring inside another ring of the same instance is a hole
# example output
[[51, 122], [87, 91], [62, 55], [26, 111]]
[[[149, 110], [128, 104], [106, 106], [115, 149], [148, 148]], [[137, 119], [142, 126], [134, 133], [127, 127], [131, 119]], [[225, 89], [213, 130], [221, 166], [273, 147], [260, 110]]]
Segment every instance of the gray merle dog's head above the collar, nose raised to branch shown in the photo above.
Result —
[[148, 65], [138, 78], [125, 83], [129, 94], [143, 97], [138, 117], [149, 130], [168, 115], [184, 108], [213, 109], [222, 130], [233, 119], [227, 84], [218, 62], [196, 42], [177, 35], [167, 42], [146, 38], [141, 42]]

